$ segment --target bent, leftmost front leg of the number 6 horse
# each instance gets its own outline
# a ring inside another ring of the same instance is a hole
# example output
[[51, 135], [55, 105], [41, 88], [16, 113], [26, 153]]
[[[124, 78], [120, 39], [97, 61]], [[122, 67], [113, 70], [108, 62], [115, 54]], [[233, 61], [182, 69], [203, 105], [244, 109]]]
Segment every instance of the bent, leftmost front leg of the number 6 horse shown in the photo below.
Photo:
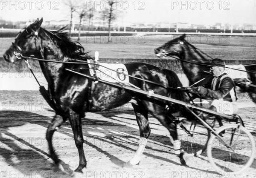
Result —
[[58, 129], [58, 127], [61, 126], [61, 124], [64, 122], [63, 118], [59, 115], [55, 115], [52, 119], [51, 123], [49, 124], [46, 132], [46, 139], [48, 141], [49, 151], [50, 155], [52, 157], [52, 160], [55, 162], [55, 164], [58, 164], [60, 160], [58, 159], [58, 156], [55, 154], [53, 146], [52, 146], [52, 135], [54, 134], [55, 130]]

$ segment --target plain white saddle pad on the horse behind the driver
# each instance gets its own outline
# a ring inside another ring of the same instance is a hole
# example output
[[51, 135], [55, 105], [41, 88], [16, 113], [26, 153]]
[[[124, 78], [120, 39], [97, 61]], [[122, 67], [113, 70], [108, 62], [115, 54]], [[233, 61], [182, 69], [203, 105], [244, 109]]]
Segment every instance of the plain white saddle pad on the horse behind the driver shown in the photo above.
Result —
[[[246, 71], [245, 67], [241, 64], [240, 65], [226, 65], [226, 67]], [[227, 75], [230, 76], [230, 78], [233, 78], [233, 79], [246, 78], [249, 82], [251, 82], [247, 77], [247, 72], [233, 70], [233, 69], [229, 69], [229, 68], [226, 68], [225, 72], [227, 73]]]

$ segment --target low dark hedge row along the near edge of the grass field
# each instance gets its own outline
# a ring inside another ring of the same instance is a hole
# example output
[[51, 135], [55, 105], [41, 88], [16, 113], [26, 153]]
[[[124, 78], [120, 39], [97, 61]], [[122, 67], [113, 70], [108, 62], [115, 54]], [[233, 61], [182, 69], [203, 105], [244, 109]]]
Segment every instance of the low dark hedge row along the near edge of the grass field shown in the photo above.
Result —
[[[178, 60], [170, 60], [170, 59], [109, 59], [109, 58], [103, 58], [100, 59], [99, 62], [101, 63], [129, 63], [129, 62], [138, 62], [138, 63], [149, 63], [154, 66], [160, 67], [160, 68], [167, 68], [171, 69], [175, 72], [182, 71], [180, 62]], [[238, 64], [249, 64], [249, 63], [256, 63], [256, 60], [225, 60], [226, 64], [228, 65], [238, 65]], [[33, 69], [40, 69], [38, 61], [29, 61], [30, 66], [32, 66]], [[17, 62], [17, 64], [7, 63], [3, 57], [0, 57], [0, 69], [27, 69], [26, 63], [20, 61]]]

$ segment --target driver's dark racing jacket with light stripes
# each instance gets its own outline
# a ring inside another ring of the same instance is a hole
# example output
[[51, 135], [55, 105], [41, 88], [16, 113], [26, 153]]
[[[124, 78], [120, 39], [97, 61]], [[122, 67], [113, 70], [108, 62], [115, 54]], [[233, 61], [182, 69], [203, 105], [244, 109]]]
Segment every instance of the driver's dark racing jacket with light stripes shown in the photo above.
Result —
[[[214, 80], [216, 80], [214, 84]], [[215, 86], [215, 89], [214, 89]], [[234, 102], [236, 98], [235, 83], [226, 73], [217, 78], [213, 78], [205, 85], [205, 95], [211, 99], [223, 99], [224, 101]]]

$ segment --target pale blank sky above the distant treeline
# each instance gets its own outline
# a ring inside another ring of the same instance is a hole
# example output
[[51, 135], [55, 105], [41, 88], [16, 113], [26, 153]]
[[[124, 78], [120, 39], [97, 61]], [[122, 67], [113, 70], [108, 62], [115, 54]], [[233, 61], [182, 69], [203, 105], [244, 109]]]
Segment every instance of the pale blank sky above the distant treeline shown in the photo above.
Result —
[[[87, 0], [96, 11], [108, 9], [105, 1]], [[45, 21], [69, 20], [65, 1], [58, 0], [0, 0], [0, 18], [27, 21], [43, 17]], [[79, 1], [73, 1], [79, 4]], [[256, 0], [120, 0], [115, 7], [121, 11], [117, 18], [126, 23], [191, 23], [191, 24], [256, 24]], [[96, 17], [95, 17], [96, 18]], [[78, 20], [78, 13], [74, 13]]]

